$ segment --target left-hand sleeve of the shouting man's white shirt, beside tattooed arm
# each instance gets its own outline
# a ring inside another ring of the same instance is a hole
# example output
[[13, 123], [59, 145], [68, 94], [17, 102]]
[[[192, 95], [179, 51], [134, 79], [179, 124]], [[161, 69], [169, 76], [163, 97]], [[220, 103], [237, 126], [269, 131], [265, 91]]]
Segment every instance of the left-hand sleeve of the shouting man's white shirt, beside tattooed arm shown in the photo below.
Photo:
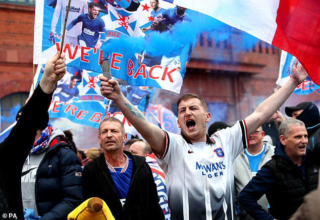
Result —
[[166, 150], [163, 155], [157, 155], [156, 153], [154, 154], [156, 155], [156, 161], [161, 169], [168, 174], [172, 170], [176, 156], [179, 155], [179, 152], [177, 151], [182, 148], [182, 143], [180, 143], [180, 139], [182, 139], [182, 137], [168, 131], [164, 131], [164, 133], [166, 138]]

